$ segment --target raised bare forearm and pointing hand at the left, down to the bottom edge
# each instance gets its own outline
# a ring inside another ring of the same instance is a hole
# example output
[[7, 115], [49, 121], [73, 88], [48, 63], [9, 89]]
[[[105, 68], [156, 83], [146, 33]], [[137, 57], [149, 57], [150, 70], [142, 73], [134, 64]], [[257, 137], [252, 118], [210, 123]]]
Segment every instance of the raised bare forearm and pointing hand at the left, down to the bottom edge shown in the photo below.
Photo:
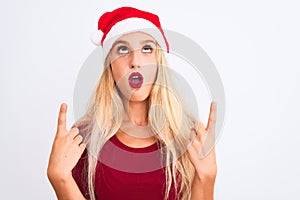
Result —
[[66, 129], [67, 105], [62, 104], [53, 142], [47, 176], [59, 200], [85, 199], [73, 176], [72, 169], [85, 150], [82, 136], [76, 127]]

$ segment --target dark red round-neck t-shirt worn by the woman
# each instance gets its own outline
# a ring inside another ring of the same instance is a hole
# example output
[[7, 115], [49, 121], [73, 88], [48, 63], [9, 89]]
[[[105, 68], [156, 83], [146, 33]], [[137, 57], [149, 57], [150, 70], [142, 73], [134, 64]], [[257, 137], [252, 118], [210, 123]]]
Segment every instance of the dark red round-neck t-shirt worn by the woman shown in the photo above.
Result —
[[[113, 136], [102, 148], [96, 166], [95, 195], [98, 200], [163, 200], [165, 170], [157, 144], [144, 148], [124, 145]], [[83, 195], [87, 190], [87, 151], [73, 169], [73, 177]], [[169, 200], [175, 200], [172, 187]]]

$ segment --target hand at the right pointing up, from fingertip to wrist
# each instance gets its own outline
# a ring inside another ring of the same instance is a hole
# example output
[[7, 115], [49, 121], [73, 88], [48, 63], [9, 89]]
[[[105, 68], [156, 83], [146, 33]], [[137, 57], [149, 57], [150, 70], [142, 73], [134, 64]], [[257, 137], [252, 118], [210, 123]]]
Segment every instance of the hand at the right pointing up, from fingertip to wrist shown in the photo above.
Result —
[[212, 102], [207, 126], [198, 122], [195, 126], [196, 136], [188, 146], [188, 152], [196, 174], [194, 183], [214, 185], [217, 175], [215, 154], [215, 126], [217, 119], [217, 104]]

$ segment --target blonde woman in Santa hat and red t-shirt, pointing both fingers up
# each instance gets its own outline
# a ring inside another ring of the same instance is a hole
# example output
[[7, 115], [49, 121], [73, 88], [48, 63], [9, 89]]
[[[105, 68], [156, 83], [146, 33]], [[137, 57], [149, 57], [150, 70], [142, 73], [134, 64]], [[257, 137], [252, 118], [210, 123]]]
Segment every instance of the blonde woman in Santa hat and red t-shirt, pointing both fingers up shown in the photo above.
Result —
[[90, 106], [70, 130], [60, 107], [47, 171], [58, 199], [212, 200], [216, 104], [207, 126], [181, 107], [156, 15], [122, 7], [98, 29], [105, 68]]

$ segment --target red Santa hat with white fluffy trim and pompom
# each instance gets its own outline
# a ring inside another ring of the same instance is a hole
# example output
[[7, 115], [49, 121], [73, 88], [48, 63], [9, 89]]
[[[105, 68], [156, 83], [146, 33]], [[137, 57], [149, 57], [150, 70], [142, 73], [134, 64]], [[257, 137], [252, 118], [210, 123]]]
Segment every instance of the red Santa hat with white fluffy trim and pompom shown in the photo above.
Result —
[[150, 34], [163, 50], [169, 52], [169, 44], [158, 16], [132, 7], [121, 7], [104, 13], [98, 21], [98, 31], [91, 36], [91, 40], [95, 45], [103, 47], [105, 58], [118, 37], [137, 31]]

